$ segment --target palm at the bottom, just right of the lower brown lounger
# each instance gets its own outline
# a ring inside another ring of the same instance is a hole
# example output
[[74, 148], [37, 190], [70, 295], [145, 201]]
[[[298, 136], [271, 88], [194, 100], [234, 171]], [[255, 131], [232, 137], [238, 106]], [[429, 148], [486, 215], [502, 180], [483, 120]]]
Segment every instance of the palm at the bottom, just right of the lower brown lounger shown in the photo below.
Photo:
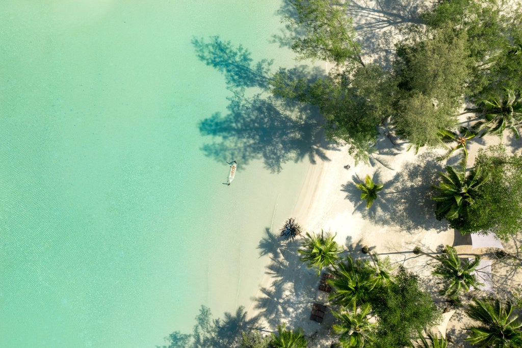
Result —
[[333, 312], [334, 316], [339, 319], [339, 323], [335, 324], [333, 329], [335, 333], [341, 334], [339, 342], [343, 348], [364, 347], [367, 343], [375, 342], [374, 327], [376, 323], [368, 320], [370, 311], [370, 304], [364, 304], [355, 313]]

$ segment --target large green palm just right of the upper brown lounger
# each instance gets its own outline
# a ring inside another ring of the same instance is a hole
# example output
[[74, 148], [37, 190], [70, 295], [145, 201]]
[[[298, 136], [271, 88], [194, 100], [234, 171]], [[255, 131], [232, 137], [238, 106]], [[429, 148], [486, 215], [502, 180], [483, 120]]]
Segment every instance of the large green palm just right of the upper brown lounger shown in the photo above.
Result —
[[334, 288], [329, 296], [330, 301], [342, 307], [352, 307], [353, 311], [358, 305], [368, 301], [375, 287], [374, 272], [361, 260], [353, 261], [348, 256], [347, 261], [340, 262], [332, 273], [334, 278], [328, 280]]

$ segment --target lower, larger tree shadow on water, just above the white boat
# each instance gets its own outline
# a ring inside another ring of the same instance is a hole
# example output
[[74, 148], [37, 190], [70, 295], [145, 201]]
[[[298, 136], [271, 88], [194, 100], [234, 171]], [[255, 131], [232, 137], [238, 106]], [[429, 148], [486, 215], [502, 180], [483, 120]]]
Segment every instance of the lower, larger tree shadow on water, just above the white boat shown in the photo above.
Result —
[[217, 139], [201, 148], [208, 157], [244, 164], [262, 159], [272, 172], [280, 172], [289, 161], [328, 160], [325, 150], [331, 145], [314, 110], [260, 94], [251, 98], [235, 94], [227, 109], [226, 116], [216, 113], [199, 123], [202, 135]]

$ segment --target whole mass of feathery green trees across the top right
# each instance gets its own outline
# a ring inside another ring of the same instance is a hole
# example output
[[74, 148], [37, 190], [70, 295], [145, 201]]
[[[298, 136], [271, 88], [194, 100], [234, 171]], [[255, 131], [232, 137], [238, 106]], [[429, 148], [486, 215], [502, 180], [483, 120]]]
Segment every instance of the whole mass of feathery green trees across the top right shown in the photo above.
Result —
[[426, 27], [408, 28], [388, 69], [362, 63], [345, 2], [290, 3], [296, 18], [287, 20], [300, 28], [295, 52], [344, 65], [316, 81], [279, 74], [274, 93], [318, 106], [327, 135], [348, 143], [356, 160], [367, 159], [387, 120], [417, 147], [441, 146], [440, 132], [455, 127], [465, 97], [483, 104], [522, 86], [521, 11], [502, 14], [495, 0], [437, 3], [422, 15]]

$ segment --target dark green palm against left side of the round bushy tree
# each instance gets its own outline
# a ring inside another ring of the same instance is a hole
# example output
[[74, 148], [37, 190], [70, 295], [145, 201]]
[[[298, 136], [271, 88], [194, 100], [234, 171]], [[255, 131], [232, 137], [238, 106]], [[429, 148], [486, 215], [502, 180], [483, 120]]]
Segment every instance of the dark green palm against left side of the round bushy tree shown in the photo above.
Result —
[[441, 183], [434, 188], [440, 191], [440, 195], [433, 197], [436, 204], [435, 214], [437, 219], [457, 220], [461, 217], [462, 210], [473, 204], [478, 197], [478, 187], [482, 185], [486, 177], [481, 175], [480, 167], [469, 171], [459, 171], [451, 166], [446, 167], [446, 173], [438, 172]]

